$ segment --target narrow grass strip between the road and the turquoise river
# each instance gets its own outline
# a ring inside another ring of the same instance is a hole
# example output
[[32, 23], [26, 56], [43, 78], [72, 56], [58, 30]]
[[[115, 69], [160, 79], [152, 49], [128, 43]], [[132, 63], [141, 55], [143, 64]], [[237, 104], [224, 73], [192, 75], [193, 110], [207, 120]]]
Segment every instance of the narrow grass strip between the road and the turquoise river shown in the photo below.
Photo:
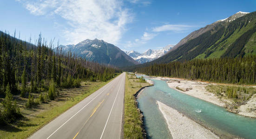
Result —
[[124, 139], [143, 139], [143, 123], [134, 94], [150, 84], [138, 80], [134, 74], [126, 73]]

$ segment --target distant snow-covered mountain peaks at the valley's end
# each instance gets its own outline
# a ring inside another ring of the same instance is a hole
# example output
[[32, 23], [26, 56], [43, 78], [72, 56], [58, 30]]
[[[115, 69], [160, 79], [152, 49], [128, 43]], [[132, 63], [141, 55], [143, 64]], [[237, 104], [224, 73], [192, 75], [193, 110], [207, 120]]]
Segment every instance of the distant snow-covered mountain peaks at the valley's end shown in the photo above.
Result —
[[142, 54], [137, 51], [133, 51], [133, 50], [126, 51], [125, 53], [127, 55], [129, 55], [130, 57], [132, 57], [138, 63], [146, 63], [146, 62], [151, 62], [154, 59], [164, 56], [164, 54], [166, 54], [168, 51], [170, 51], [173, 46], [174, 45], [169, 44], [169, 45], [165, 46], [163, 49], [159, 49], [159, 50], [149, 49]]

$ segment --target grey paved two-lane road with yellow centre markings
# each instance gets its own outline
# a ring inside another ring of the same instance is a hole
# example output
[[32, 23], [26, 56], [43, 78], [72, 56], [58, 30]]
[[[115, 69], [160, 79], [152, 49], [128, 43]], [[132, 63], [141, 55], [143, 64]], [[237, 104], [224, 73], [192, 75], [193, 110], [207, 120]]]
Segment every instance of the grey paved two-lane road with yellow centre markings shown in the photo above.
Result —
[[125, 73], [42, 127], [29, 139], [120, 139]]

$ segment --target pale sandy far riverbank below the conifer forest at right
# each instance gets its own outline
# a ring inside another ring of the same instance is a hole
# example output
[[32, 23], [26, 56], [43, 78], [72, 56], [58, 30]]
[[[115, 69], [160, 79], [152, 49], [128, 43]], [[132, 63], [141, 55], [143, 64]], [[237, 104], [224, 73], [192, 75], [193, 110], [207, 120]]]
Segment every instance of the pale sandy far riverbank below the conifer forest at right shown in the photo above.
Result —
[[[155, 79], [168, 80], [167, 84], [170, 88], [184, 94], [197, 97], [204, 101], [211, 102], [218, 106], [225, 107], [230, 112], [256, 118], [256, 94], [253, 94], [253, 92], [255, 92], [255, 86], [208, 83], [168, 77], [156, 77]], [[211, 88], [206, 89], [209, 88], [209, 86], [211, 86]], [[227, 97], [227, 94], [225, 94], [225, 90], [222, 92], [220, 88], [232, 88], [232, 90], [238, 90], [238, 88], [248, 88], [251, 93], [246, 93], [246, 91], [238, 91], [238, 98], [230, 99]], [[243, 96], [248, 99], [243, 99]]]

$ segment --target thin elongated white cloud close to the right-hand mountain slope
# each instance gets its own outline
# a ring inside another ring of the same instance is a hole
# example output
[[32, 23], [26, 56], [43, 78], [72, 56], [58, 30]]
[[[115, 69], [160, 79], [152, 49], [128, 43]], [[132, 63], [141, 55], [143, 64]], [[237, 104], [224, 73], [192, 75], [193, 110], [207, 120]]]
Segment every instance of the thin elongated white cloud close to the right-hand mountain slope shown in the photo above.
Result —
[[184, 31], [192, 28], [191, 25], [162, 25], [153, 28], [153, 32], [164, 32], [164, 31]]

